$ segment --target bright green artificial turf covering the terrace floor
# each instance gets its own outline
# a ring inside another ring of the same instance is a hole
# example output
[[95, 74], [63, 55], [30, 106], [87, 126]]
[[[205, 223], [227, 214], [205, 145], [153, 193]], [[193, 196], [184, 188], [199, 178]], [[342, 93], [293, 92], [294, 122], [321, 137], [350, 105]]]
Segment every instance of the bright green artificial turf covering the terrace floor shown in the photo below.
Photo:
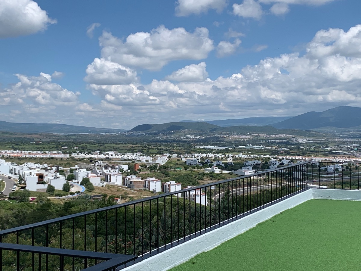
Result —
[[361, 270], [361, 202], [312, 199], [171, 271]]

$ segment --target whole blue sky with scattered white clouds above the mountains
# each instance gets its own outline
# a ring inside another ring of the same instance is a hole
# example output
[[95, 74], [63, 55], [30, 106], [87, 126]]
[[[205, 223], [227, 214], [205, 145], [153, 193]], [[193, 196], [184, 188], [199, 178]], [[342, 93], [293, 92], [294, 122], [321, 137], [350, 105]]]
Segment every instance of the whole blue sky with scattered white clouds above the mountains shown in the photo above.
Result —
[[131, 129], [361, 107], [359, 0], [0, 0], [0, 120]]

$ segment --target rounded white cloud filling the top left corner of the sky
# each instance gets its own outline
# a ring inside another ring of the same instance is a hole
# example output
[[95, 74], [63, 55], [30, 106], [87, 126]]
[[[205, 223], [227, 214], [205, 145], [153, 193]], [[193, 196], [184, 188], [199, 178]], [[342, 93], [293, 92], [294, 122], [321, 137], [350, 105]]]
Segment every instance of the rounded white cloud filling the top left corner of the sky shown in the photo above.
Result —
[[0, 38], [34, 34], [56, 23], [32, 0], [0, 0]]

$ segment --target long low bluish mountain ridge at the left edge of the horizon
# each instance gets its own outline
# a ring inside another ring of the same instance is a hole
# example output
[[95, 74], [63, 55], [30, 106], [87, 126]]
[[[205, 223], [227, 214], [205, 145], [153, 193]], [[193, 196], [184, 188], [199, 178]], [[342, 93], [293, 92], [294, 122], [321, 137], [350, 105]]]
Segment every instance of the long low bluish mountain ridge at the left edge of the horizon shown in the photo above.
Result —
[[127, 130], [95, 128], [56, 123], [17, 123], [0, 121], [0, 131], [13, 133], [121, 133]]

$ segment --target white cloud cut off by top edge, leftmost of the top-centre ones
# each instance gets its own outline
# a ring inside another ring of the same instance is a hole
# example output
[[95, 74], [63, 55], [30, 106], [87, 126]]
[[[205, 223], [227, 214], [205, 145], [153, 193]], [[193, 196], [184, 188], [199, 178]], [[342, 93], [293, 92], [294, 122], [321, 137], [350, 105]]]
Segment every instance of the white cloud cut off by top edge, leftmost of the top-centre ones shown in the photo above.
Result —
[[177, 16], [189, 16], [190, 14], [201, 14], [209, 9], [221, 12], [227, 6], [227, 0], [178, 0], [176, 2], [175, 14]]

